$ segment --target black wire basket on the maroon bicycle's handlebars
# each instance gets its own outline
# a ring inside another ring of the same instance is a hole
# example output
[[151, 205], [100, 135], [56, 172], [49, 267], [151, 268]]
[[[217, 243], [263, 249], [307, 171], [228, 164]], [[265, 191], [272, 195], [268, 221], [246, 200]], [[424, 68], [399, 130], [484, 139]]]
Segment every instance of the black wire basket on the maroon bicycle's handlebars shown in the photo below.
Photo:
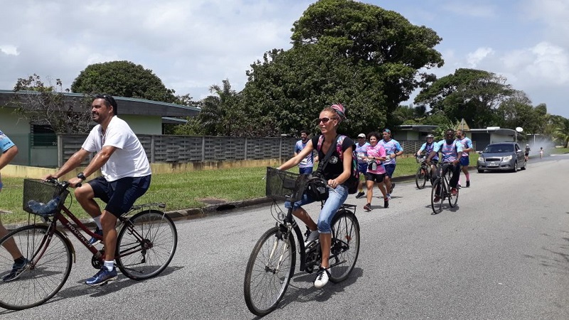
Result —
[[67, 189], [63, 190], [61, 186], [53, 183], [40, 179], [23, 179], [22, 206], [23, 210], [27, 213], [38, 215], [38, 213], [33, 212], [32, 208], [30, 208], [32, 203], [39, 203], [43, 206], [53, 198], [59, 196], [57, 209], [49, 213], [50, 215], [53, 215], [63, 207], [65, 198], [67, 198], [68, 195], [69, 191]]

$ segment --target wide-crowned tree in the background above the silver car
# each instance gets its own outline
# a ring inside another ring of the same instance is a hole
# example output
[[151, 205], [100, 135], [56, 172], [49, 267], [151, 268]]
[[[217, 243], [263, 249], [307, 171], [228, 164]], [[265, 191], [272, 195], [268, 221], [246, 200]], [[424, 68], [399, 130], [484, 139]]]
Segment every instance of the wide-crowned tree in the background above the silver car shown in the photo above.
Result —
[[421, 90], [415, 103], [441, 110], [452, 121], [464, 118], [470, 127], [483, 128], [496, 123], [496, 108], [515, 92], [501, 75], [457, 69]]

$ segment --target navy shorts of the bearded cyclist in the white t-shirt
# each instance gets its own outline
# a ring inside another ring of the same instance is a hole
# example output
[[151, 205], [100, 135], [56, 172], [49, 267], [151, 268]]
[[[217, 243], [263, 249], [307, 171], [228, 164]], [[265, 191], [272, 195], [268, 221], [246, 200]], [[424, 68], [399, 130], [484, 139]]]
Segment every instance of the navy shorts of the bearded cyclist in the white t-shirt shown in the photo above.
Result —
[[147, 192], [150, 186], [150, 177], [150, 175], [136, 178], [125, 177], [108, 182], [100, 176], [87, 183], [93, 189], [95, 198], [100, 198], [101, 201], [107, 203], [105, 210], [119, 217], [127, 213], [132, 208], [134, 201], [137, 201]]

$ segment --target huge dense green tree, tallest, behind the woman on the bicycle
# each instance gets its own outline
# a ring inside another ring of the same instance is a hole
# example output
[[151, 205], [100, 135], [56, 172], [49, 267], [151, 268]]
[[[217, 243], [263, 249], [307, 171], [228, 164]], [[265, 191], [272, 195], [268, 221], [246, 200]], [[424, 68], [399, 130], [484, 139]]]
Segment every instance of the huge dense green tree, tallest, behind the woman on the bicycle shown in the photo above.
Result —
[[443, 63], [435, 31], [356, 1], [317, 1], [292, 32], [293, 47], [252, 64], [243, 90], [245, 105], [257, 106], [280, 133], [316, 130], [318, 112], [334, 102], [348, 109], [346, 133], [383, 127], [400, 102], [434, 79], [418, 70]]

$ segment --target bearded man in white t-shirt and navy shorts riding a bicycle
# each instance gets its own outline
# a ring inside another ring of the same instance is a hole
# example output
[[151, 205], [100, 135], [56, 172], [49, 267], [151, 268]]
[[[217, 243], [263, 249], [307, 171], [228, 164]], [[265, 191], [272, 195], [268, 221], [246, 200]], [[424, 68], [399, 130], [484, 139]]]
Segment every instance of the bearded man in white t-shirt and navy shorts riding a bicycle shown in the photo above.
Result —
[[[151, 171], [146, 153], [127, 122], [117, 117], [117, 102], [110, 95], [97, 95], [91, 105], [92, 119], [98, 124], [91, 130], [81, 149], [63, 164], [56, 174], [43, 179], [59, 178], [80, 166], [92, 152], [97, 154], [77, 178], [69, 180], [75, 187], [75, 198], [97, 224], [105, 244], [105, 262], [85, 284], [98, 286], [117, 279], [115, 247], [117, 218], [127, 213], [134, 201], [150, 186]], [[101, 169], [102, 176], [82, 183]], [[101, 211], [94, 198], [107, 203]], [[94, 244], [97, 240], [91, 239]]]

